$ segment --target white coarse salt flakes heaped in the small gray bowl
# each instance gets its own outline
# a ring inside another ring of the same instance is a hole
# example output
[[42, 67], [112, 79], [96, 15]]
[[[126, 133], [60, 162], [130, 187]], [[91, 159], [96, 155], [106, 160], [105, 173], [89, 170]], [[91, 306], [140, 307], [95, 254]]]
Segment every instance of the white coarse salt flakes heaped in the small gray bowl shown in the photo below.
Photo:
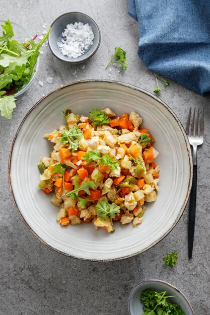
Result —
[[68, 24], [62, 33], [64, 39], [57, 42], [63, 55], [69, 58], [78, 58], [93, 44], [94, 34], [92, 27], [87, 23], [76, 22]]

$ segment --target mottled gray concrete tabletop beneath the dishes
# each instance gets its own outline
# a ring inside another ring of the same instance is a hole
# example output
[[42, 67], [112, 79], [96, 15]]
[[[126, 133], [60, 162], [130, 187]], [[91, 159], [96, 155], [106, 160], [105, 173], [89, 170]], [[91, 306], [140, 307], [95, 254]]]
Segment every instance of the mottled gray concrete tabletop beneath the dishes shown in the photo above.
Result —
[[[149, 251], [110, 263], [71, 259], [43, 246], [26, 228], [13, 204], [8, 185], [8, 157], [23, 117], [42, 95], [61, 84], [86, 78], [110, 78], [152, 92], [154, 73], [137, 57], [138, 27], [127, 15], [127, 0], [7, 0], [0, 1], [1, 19], [9, 18], [40, 35], [62, 13], [79, 11], [93, 17], [102, 34], [96, 55], [80, 65], [57, 60], [47, 46], [42, 48], [40, 67], [30, 89], [17, 100], [13, 118], [0, 117], [1, 125], [1, 255], [0, 314], [127, 314], [131, 288], [144, 279], [162, 279], [177, 286], [189, 299], [195, 315], [209, 315], [209, 97], [201, 97], [173, 82], [160, 94], [185, 125], [189, 106], [205, 110], [205, 142], [198, 149], [198, 185], [195, 241], [192, 260], [187, 257], [188, 207], [173, 231]], [[161, 8], [160, 8], [161, 10]], [[127, 51], [124, 73], [105, 71], [116, 45]], [[48, 76], [53, 84], [48, 84]], [[38, 82], [43, 81], [43, 87]], [[177, 250], [177, 265], [164, 266], [162, 257]]]

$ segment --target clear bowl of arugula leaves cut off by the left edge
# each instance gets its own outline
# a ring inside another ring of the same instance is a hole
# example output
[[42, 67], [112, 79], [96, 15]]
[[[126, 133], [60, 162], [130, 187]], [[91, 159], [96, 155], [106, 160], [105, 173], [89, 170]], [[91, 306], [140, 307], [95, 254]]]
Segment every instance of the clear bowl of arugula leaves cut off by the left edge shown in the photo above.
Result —
[[39, 65], [39, 48], [50, 30], [36, 43], [21, 25], [1, 21], [0, 29], [0, 112], [5, 118], [12, 117], [16, 97], [32, 84]]

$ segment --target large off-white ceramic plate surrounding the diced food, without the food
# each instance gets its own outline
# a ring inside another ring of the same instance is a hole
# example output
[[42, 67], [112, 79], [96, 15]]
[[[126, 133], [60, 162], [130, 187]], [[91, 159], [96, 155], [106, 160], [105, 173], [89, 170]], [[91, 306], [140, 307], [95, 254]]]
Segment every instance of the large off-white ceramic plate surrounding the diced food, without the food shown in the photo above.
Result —
[[[49, 156], [50, 142], [43, 135], [64, 122], [62, 111], [88, 115], [92, 108], [110, 107], [117, 115], [135, 111], [156, 139], [160, 152], [160, 192], [149, 203], [144, 222], [134, 228], [116, 222], [115, 232], [95, 230], [92, 224], [62, 227], [58, 207], [37, 188], [40, 156]], [[90, 80], [56, 89], [28, 112], [15, 136], [9, 161], [9, 181], [15, 205], [30, 230], [52, 249], [86, 260], [107, 261], [146, 251], [176, 225], [186, 206], [192, 181], [192, 158], [184, 129], [160, 99], [124, 83]]]

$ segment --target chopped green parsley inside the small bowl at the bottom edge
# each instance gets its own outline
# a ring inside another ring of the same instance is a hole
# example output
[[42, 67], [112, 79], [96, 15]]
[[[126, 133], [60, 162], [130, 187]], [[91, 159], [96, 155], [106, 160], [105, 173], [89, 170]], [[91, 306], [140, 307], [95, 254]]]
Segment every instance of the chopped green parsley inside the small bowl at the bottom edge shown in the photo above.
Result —
[[158, 293], [147, 289], [142, 292], [141, 302], [144, 303], [144, 314], [142, 315], [186, 315], [180, 305], [172, 304], [168, 298], [176, 295], [167, 296], [167, 292]]

